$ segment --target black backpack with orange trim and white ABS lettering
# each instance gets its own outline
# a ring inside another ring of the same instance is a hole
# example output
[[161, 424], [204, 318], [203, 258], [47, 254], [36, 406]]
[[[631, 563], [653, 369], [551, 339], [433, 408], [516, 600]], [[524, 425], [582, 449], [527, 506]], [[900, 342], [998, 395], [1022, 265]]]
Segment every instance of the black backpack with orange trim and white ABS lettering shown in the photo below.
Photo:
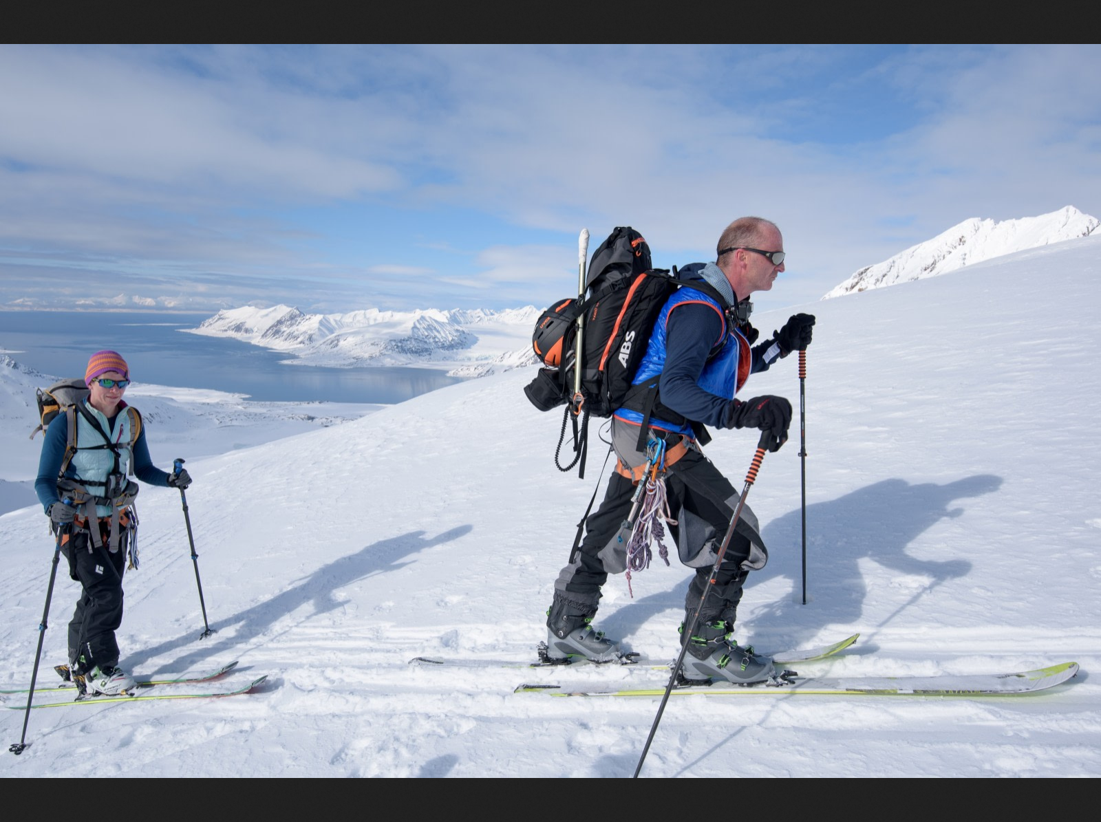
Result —
[[[539, 410], [566, 405], [555, 464], [569, 471], [580, 462], [585, 476], [589, 417], [610, 417], [622, 407], [650, 342], [654, 322], [683, 283], [665, 268], [652, 268], [650, 245], [630, 227], [619, 227], [592, 253], [586, 292], [556, 300], [535, 324], [532, 348], [545, 368], [524, 394]], [[693, 284], [708, 292], [706, 284]], [[581, 326], [580, 386], [577, 379], [578, 318]], [[580, 425], [578, 418], [580, 417]], [[559, 461], [566, 419], [574, 425], [574, 461]]]

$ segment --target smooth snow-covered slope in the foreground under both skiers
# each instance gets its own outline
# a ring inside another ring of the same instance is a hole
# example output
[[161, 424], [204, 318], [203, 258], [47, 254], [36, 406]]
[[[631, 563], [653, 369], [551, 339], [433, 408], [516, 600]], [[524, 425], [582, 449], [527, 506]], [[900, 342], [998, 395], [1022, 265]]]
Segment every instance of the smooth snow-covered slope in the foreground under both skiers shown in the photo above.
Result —
[[[811, 601], [799, 604], [798, 443], [767, 454], [750, 504], [771, 549], [739, 639], [759, 648], [861, 633], [800, 672], [931, 675], [1077, 660], [1027, 698], [675, 700], [644, 776], [1101, 774], [1101, 237], [803, 307]], [[1037, 283], [1056, 284], [1050, 289]], [[782, 287], [781, 283], [777, 287]], [[754, 318], [765, 332], [785, 319]], [[212, 637], [201, 629], [179, 496], [144, 489], [142, 567], [127, 579], [122, 662], [141, 672], [233, 659], [219, 701], [34, 712], [11, 776], [624, 777], [658, 700], [513, 694], [555, 670], [412, 669], [417, 655], [531, 656], [596, 482], [553, 465], [560, 417], [524, 398], [531, 370], [425, 394], [341, 426], [188, 463]], [[796, 359], [746, 396], [798, 401]], [[797, 430], [797, 428], [796, 428]], [[710, 458], [741, 486], [756, 437]], [[0, 688], [29, 679], [52, 542], [39, 511], [0, 517]], [[689, 571], [613, 577], [599, 627], [677, 650]], [[45, 634], [65, 655], [64, 574]], [[53, 675], [50, 675], [53, 676]], [[636, 678], [582, 668], [570, 679]], [[6, 704], [20, 704], [7, 698]], [[0, 712], [7, 742], [23, 715]]]

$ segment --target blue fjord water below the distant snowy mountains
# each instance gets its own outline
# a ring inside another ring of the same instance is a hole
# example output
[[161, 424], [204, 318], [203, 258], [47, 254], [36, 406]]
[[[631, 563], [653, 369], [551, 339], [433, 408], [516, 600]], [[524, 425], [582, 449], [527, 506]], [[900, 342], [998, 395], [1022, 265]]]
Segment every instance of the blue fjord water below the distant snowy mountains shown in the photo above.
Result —
[[215, 388], [268, 402], [400, 403], [459, 382], [443, 371], [292, 365], [292, 355], [238, 340], [186, 333], [200, 314], [0, 311], [0, 349], [44, 374], [84, 373], [101, 349], [121, 353], [139, 383]]

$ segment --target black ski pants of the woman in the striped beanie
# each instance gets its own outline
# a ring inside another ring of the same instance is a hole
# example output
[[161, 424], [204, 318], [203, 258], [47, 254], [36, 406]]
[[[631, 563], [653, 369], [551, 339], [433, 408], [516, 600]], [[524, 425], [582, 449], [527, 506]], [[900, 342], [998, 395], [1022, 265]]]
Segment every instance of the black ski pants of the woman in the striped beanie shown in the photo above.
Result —
[[116, 666], [119, 645], [115, 632], [122, 625], [127, 535], [122, 534], [119, 549], [110, 551], [106, 545], [94, 546], [87, 530], [75, 529], [62, 545], [62, 554], [69, 562], [69, 577], [81, 588], [68, 627], [69, 666], [81, 672], [95, 666]]

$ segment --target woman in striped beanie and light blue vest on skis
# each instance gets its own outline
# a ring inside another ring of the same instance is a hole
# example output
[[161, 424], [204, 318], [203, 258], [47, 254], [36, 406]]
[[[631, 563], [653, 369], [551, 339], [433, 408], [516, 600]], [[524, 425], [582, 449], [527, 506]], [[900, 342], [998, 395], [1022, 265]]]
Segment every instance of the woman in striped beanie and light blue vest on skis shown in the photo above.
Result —
[[119, 668], [115, 632], [122, 624], [122, 573], [128, 538], [135, 526], [131, 503], [135, 474], [151, 485], [186, 489], [187, 471], [170, 474], [153, 465], [137, 409], [122, 401], [130, 384], [126, 360], [98, 351], [85, 373], [88, 396], [58, 414], [46, 428], [34, 490], [62, 540], [69, 577], [81, 585], [68, 626], [69, 675], [91, 693], [133, 688]]

